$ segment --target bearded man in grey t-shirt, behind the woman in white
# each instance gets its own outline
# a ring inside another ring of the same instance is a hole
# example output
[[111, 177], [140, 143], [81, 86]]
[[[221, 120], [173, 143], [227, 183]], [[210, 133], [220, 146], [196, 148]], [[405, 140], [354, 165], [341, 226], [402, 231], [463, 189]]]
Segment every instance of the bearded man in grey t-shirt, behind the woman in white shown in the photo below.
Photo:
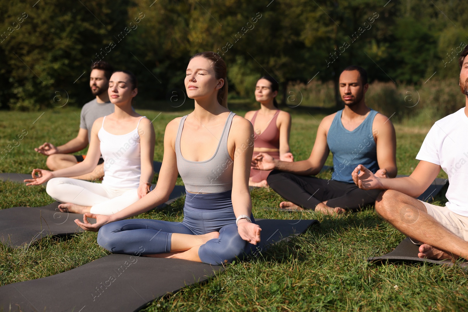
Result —
[[[109, 101], [109, 94], [107, 92], [109, 79], [113, 71], [112, 66], [104, 61], [91, 65], [89, 87], [91, 87], [91, 92], [96, 98], [86, 103], [81, 109], [80, 131], [78, 131], [76, 138], [60, 146], [54, 146], [49, 142], [45, 142], [43, 145], [35, 148], [36, 152], [48, 156], [46, 164], [52, 171], [72, 167], [86, 158], [86, 155], [72, 155], [70, 153], [79, 152], [86, 148], [91, 138], [91, 128], [95, 120], [114, 112], [114, 104]], [[74, 178], [89, 181], [102, 178], [104, 175], [103, 162], [104, 160], [101, 158], [93, 172]]]

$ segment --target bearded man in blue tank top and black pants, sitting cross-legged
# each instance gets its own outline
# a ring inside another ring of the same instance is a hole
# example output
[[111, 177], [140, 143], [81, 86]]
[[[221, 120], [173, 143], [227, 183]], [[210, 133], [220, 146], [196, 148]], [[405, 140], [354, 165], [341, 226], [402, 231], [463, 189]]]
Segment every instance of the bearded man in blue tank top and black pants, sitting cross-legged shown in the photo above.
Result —
[[[339, 83], [344, 109], [322, 119], [307, 160], [286, 162], [264, 153], [252, 160], [253, 168], [274, 169], [267, 182], [288, 200], [280, 203], [280, 209], [328, 214], [357, 210], [374, 203], [380, 194], [380, 190], [366, 191], [354, 184], [351, 173], [358, 164], [381, 178], [396, 176], [395, 129], [388, 117], [366, 106], [366, 70], [348, 66]], [[332, 178], [311, 176], [320, 172], [329, 152], [333, 153]]]

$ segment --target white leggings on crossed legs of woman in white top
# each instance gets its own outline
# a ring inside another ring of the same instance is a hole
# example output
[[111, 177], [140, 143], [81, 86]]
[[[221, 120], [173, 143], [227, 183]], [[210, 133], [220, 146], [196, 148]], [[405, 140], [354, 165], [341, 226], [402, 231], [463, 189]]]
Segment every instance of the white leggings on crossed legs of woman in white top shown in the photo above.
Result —
[[117, 189], [102, 183], [72, 178], [52, 178], [47, 194], [61, 203], [91, 206], [91, 213], [111, 215], [138, 201], [138, 189]]

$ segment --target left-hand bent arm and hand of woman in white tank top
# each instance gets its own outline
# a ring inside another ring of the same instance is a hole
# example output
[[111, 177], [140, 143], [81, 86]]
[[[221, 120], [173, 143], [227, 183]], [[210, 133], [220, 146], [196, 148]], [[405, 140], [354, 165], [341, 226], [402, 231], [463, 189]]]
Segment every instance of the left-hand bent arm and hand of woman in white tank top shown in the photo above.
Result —
[[[74, 177], [82, 174], [88, 174], [94, 170], [101, 156], [101, 148], [99, 138], [97, 133], [101, 129], [102, 118], [96, 119], [93, 123], [92, 132], [91, 132], [91, 142], [89, 142], [88, 152], [86, 153], [86, 158], [72, 167], [60, 169], [57, 171], [48, 171], [44, 169], [34, 169], [32, 171], [32, 179], [24, 180], [29, 182], [26, 185], [40, 185], [49, 181], [52, 178], [57, 177]], [[36, 176], [36, 173], [39, 174]]]

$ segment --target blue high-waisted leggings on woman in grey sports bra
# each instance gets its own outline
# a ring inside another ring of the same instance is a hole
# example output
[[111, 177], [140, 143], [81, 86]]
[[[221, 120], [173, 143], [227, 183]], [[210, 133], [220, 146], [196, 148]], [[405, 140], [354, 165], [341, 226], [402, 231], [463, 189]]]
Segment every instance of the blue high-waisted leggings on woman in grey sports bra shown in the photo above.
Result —
[[[116, 254], [164, 254], [171, 250], [172, 233], [200, 235], [218, 231], [198, 249], [200, 260], [219, 265], [242, 260], [254, 245], [243, 240], [237, 232], [231, 202], [231, 190], [214, 194], [187, 192], [182, 222], [153, 219], [127, 219], [111, 222], [99, 229], [97, 242]], [[255, 222], [253, 216], [250, 216]]]

